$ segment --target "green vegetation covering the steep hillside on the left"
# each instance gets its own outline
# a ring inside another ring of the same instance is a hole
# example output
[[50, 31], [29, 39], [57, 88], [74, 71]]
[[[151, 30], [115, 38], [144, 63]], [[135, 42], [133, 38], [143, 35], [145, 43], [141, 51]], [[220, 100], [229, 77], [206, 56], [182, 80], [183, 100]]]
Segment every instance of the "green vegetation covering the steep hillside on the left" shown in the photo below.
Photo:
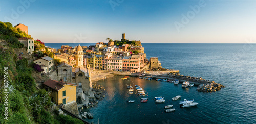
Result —
[[[11, 23], [0, 22], [0, 39], [7, 40], [9, 45], [6, 49], [0, 46], [0, 111], [8, 111], [8, 120], [2, 113], [0, 123], [82, 123], [71, 116], [53, 113], [54, 104], [49, 93], [45, 89], [37, 89], [35, 79], [31, 76], [37, 73], [33, 69], [34, 64], [14, 53], [13, 48], [22, 47], [17, 41], [22, 35], [26, 36], [23, 32], [16, 32]], [[13, 48], [10, 47], [11, 43]], [[8, 85], [4, 84], [5, 80]], [[5, 86], [8, 86], [9, 92], [7, 99], [4, 97], [7, 95]]]

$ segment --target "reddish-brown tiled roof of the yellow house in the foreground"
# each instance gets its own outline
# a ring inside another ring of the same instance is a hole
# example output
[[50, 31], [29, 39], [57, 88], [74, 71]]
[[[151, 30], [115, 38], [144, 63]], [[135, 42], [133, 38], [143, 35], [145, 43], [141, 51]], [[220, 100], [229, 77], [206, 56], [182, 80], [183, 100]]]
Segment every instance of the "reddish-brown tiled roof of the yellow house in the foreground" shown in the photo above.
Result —
[[55, 80], [51, 80], [51, 79], [44, 82], [43, 84], [52, 88], [52, 89], [54, 89], [54, 90], [56, 90], [56, 91], [61, 90], [63, 87], [65, 87], [65, 85], [77, 86], [75, 84], [65, 83], [65, 82], [62, 82], [62, 81], [55, 81]]

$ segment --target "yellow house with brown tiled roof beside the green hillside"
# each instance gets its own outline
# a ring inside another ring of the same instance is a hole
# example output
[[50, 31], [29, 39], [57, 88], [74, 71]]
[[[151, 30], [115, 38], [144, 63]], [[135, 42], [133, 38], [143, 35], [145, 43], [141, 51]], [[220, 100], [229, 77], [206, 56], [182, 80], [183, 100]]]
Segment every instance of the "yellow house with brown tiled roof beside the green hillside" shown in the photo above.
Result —
[[45, 89], [50, 93], [51, 100], [57, 105], [76, 102], [76, 86], [72, 83], [48, 80], [44, 82]]

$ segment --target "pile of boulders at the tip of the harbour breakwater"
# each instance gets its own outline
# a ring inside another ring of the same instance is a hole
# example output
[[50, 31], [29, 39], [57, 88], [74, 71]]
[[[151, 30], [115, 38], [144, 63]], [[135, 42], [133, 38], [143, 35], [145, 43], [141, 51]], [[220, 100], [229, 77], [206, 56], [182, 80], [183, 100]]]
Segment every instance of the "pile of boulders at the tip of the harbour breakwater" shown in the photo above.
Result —
[[225, 86], [215, 83], [214, 81], [211, 81], [208, 84], [199, 85], [197, 88], [197, 91], [199, 91], [199, 92], [215, 92], [215, 91], [220, 90], [223, 87], [225, 87]]

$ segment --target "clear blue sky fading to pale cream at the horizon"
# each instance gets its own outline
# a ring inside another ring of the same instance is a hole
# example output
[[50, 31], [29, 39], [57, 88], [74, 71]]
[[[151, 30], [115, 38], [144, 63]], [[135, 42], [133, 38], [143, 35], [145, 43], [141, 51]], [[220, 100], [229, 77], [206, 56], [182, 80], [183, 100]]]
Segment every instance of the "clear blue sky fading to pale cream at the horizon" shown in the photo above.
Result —
[[45, 43], [256, 43], [253, 0], [1, 0], [0, 21]]

